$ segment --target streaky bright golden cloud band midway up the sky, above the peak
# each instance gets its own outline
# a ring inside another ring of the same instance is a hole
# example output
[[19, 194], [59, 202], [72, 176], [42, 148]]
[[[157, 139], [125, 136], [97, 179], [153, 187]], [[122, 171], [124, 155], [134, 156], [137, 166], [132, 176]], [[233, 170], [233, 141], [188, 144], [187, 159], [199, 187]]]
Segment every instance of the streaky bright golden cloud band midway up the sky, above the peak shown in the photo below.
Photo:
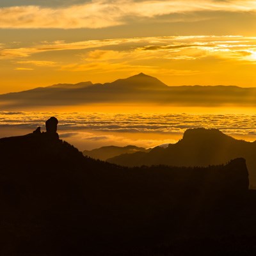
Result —
[[[70, 62], [66, 65], [63, 62], [57, 63], [51, 60], [31, 60], [35, 54], [44, 52], [54, 54], [56, 51], [77, 51], [77, 53], [72, 55]], [[26, 60], [28, 57], [29, 60]], [[104, 70], [104, 66], [109, 63], [125, 65], [125, 68], [132, 67], [135, 62], [134, 58], [137, 63], [141, 61], [141, 67], [143, 67], [147, 61], [153, 59], [193, 61], [209, 57], [256, 62], [256, 38], [244, 36], [159, 36], [72, 43], [42, 42], [40, 45], [30, 47], [9, 49], [6, 45], [0, 49], [0, 58], [3, 60], [19, 58], [16, 63], [21, 65], [45, 66], [73, 71], [95, 68]], [[138, 67], [140, 66], [138, 65]], [[112, 70], [114, 68], [116, 67], [111, 67]], [[157, 67], [152, 66], [152, 68]]]

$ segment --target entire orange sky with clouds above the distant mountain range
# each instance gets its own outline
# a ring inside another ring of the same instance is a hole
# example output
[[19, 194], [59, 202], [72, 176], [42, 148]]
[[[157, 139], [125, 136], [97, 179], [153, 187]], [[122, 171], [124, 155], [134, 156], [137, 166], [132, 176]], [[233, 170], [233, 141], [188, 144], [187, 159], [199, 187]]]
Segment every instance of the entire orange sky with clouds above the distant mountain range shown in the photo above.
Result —
[[111, 82], [256, 86], [255, 1], [0, 3], [0, 93]]

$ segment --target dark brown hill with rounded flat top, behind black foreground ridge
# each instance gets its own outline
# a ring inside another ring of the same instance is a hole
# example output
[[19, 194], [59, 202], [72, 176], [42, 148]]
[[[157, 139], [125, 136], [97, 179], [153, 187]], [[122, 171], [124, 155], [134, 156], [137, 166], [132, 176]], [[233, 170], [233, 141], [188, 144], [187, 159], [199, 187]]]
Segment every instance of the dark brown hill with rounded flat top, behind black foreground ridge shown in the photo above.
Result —
[[209, 166], [225, 164], [230, 159], [244, 157], [250, 174], [250, 184], [256, 186], [256, 141], [236, 140], [217, 129], [188, 129], [182, 140], [167, 148], [156, 147], [150, 152], [122, 154], [108, 159], [122, 166]]

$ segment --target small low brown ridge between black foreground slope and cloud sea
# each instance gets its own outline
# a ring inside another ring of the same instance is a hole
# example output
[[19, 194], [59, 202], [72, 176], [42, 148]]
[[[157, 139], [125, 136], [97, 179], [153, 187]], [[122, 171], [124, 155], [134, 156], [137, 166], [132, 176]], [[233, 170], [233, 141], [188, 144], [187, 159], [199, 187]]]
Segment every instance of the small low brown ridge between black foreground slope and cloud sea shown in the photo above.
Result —
[[84, 150], [83, 155], [89, 156], [94, 159], [100, 159], [102, 161], [106, 161], [106, 159], [120, 156], [121, 154], [132, 154], [134, 152], [149, 152], [151, 148], [141, 148], [133, 145], [125, 146], [125, 147], [116, 147], [116, 146], [107, 146], [95, 148], [93, 150]]

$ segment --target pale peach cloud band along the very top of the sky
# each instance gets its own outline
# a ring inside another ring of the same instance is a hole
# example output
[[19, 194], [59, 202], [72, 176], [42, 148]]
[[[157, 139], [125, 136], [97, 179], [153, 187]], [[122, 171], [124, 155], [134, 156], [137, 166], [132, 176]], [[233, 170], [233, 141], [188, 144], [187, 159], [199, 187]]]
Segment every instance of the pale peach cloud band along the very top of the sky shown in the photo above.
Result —
[[31, 5], [0, 8], [0, 28], [106, 28], [125, 24], [131, 17], [148, 19], [172, 13], [255, 10], [255, 1], [250, 0], [95, 0], [65, 7]]

